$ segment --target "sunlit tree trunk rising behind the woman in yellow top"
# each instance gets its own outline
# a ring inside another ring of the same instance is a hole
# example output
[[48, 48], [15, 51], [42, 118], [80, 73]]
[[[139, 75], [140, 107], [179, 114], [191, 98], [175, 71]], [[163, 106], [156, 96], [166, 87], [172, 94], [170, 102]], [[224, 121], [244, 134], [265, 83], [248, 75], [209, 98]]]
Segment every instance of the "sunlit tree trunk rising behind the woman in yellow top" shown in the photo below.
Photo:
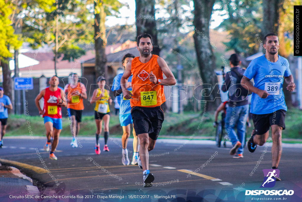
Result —
[[95, 23], [94, 23], [94, 40], [95, 40], [95, 76], [104, 76], [106, 79], [108, 75], [105, 75], [106, 69], [106, 54], [105, 46], [107, 44], [106, 40], [106, 29], [105, 29], [105, 18], [106, 14], [104, 12], [104, 6], [102, 4], [95, 5]]

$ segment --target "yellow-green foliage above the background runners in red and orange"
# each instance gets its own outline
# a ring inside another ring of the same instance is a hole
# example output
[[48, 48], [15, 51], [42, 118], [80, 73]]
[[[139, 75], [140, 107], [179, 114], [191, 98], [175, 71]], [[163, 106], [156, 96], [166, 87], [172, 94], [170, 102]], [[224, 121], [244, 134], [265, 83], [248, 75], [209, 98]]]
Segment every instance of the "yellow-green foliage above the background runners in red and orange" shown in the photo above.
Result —
[[58, 52], [65, 54], [67, 51], [64, 59], [85, 54], [78, 45], [88, 43], [87, 35], [93, 35], [93, 19], [86, 6], [87, 1], [52, 0], [49, 12], [43, 9], [29, 11], [22, 28], [25, 40], [32, 48], [54, 44], [57, 27]]

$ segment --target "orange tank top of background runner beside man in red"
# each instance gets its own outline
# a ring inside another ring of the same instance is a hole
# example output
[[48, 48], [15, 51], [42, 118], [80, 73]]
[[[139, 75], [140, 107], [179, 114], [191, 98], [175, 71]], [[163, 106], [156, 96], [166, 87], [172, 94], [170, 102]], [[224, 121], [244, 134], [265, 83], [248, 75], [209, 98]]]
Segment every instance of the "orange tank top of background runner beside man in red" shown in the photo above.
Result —
[[80, 95], [78, 95], [78, 91], [82, 93], [81, 89], [81, 83], [78, 83], [76, 88], [71, 88], [70, 84], [68, 85], [67, 89], [67, 98], [69, 102], [67, 103], [67, 108], [69, 109], [74, 109], [74, 110], [83, 110], [84, 109], [84, 104], [83, 104], [83, 99], [81, 98]]

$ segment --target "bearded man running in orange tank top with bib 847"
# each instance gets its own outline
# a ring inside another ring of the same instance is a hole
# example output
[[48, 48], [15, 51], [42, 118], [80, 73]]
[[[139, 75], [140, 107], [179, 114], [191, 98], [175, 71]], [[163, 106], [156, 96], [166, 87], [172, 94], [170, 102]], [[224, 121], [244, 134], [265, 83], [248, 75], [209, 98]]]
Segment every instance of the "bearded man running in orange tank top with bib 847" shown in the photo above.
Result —
[[[129, 61], [120, 83], [125, 99], [130, 99], [133, 127], [140, 138], [140, 159], [143, 169], [144, 187], [151, 187], [154, 176], [149, 171], [149, 151], [154, 149], [159, 131], [164, 121], [161, 104], [165, 102], [163, 85], [175, 85], [176, 80], [164, 59], [152, 55], [152, 37], [142, 34], [137, 37], [140, 57]], [[132, 93], [127, 90], [127, 82], [132, 77]], [[163, 74], [167, 77], [163, 79]]]

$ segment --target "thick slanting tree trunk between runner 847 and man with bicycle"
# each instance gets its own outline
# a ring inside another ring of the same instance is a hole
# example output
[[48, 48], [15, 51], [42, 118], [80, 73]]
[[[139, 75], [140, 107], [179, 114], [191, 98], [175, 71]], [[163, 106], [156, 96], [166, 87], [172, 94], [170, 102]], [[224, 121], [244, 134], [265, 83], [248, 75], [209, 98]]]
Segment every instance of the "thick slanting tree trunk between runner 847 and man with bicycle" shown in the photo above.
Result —
[[[212, 45], [207, 41], [209, 40], [209, 24], [212, 9], [215, 0], [194, 0], [194, 20], [193, 25], [195, 26], [195, 33], [193, 35], [194, 45], [197, 55], [198, 66], [201, 72], [201, 78], [203, 80], [205, 92], [201, 93], [203, 99], [208, 102], [208, 109], [216, 109], [219, 102], [215, 99], [217, 96], [218, 89], [214, 89], [217, 83], [217, 76], [214, 72], [215, 69], [215, 56], [213, 54]], [[206, 39], [204, 39], [206, 37]], [[211, 84], [210, 89], [209, 85]], [[217, 86], [216, 86], [217, 87]], [[198, 89], [196, 89], [198, 90]], [[213, 91], [212, 91], [213, 90]], [[195, 94], [195, 93], [194, 93]]]

